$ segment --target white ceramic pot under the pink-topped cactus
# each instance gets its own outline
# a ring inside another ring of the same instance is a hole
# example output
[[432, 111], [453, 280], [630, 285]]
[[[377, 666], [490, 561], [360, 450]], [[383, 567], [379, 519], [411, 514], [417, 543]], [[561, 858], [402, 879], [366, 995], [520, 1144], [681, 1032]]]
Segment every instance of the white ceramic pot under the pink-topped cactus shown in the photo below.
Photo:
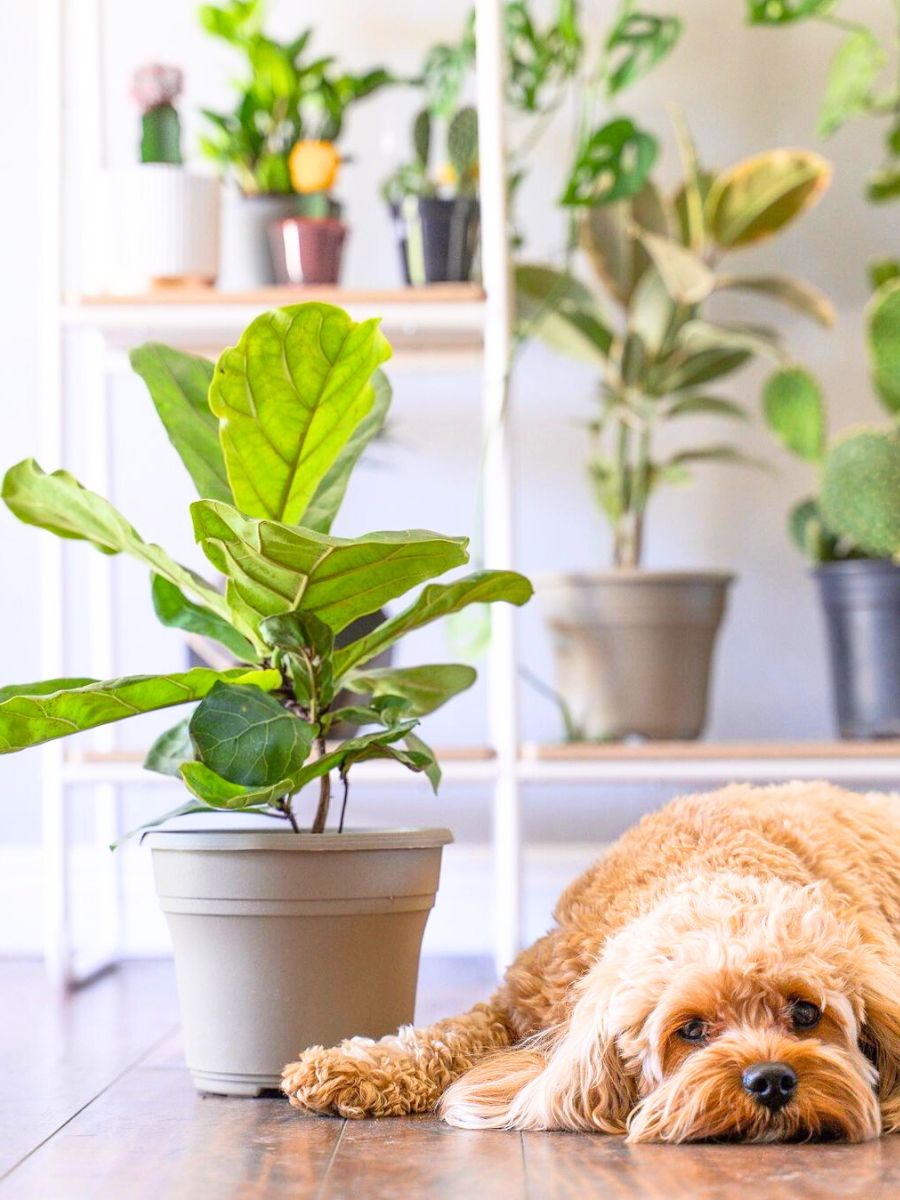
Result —
[[103, 286], [143, 292], [169, 283], [215, 283], [218, 271], [217, 179], [146, 162], [104, 172]]

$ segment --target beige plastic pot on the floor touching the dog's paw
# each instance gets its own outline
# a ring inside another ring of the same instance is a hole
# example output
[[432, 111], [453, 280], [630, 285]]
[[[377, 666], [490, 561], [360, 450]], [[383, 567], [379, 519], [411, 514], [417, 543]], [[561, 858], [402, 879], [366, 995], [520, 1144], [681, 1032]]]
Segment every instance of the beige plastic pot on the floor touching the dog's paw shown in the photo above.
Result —
[[449, 829], [144, 839], [198, 1091], [258, 1096], [310, 1045], [413, 1020]]

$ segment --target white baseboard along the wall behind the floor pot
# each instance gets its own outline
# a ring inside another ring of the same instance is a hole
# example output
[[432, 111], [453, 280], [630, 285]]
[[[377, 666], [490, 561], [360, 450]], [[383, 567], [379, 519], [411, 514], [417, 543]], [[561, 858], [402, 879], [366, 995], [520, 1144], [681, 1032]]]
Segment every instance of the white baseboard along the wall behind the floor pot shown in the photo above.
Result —
[[[533, 941], [551, 924], [563, 888], [604, 851], [602, 845], [538, 844], [526, 851], [524, 926]], [[103, 850], [72, 852], [72, 925], [79, 946], [108, 928], [102, 887]], [[122, 954], [169, 953], [166, 922], [156, 904], [150, 854], [127, 846], [121, 854]], [[34, 956], [42, 947], [42, 862], [37, 846], [0, 846], [0, 955]], [[428, 919], [424, 953], [490, 955], [493, 932], [493, 863], [490, 846], [455, 844], [444, 852], [440, 890]]]

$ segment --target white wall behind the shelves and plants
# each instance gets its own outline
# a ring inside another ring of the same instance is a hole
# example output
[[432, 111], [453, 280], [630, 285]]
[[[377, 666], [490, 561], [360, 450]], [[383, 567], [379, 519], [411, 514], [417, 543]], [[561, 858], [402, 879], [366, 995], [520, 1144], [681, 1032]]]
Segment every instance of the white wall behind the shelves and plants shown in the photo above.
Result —
[[[41, 145], [35, 130], [36, 7], [0, 5], [0, 44], [6, 50], [0, 74], [0, 110], [5, 114], [5, 154], [0, 160], [4, 464], [37, 446], [34, 268], [41, 238], [36, 193]], [[414, 71], [422, 47], [454, 36], [467, 7], [466, 0], [428, 6], [415, 0], [383, 0], [379, 5], [281, 0], [272, 5], [272, 25], [288, 35], [307, 22], [314, 23], [316, 47], [322, 53], [337, 50], [354, 67], [382, 60], [397, 70]], [[736, 266], [793, 271], [829, 292], [840, 312], [835, 332], [810, 328], [799, 318], [785, 319], [780, 311], [769, 313], [768, 319], [784, 324], [788, 344], [827, 383], [834, 425], [874, 416], [860, 331], [864, 265], [870, 258], [896, 250], [896, 215], [892, 230], [892, 215], [866, 208], [860, 199], [862, 176], [880, 154], [875, 128], [853, 124], [826, 146], [820, 146], [814, 134], [834, 35], [808, 25], [778, 32], [745, 29], [744, 6], [737, 0], [684, 0], [656, 7], [682, 12], [688, 32], [673, 58], [626, 98], [630, 109], [664, 139], [662, 173], [667, 179], [672, 180], [677, 170], [667, 101], [683, 107], [710, 164], [725, 166], [774, 144], [817, 146], [834, 161], [835, 181], [820, 208], [778, 244], [748, 253], [745, 262], [736, 258]], [[860, 0], [858, 5], [860, 17], [874, 20], [882, 17], [884, 7], [876, 0]], [[152, 6], [107, 0], [103, 86], [110, 163], [128, 162], [133, 152], [136, 114], [127, 98], [127, 82], [140, 64], [154, 59], [184, 64], [191, 108], [227, 103], [227, 79], [234, 60], [227, 48], [200, 34], [193, 10], [193, 4], [184, 0], [156, 0]], [[612, 4], [590, 0], [586, 10], [592, 29], [599, 32]], [[414, 104], [413, 95], [397, 90], [377, 97], [350, 120], [347, 150], [354, 162], [347, 167], [340, 187], [353, 227], [347, 283], [398, 282], [396, 251], [377, 186], [406, 149]], [[187, 144], [192, 145], [197, 120], [190, 112], [186, 124]], [[562, 241], [552, 200], [566, 152], [566, 130], [560, 124], [533, 158], [521, 216], [529, 235], [529, 252], [535, 256], [552, 252]], [[72, 164], [77, 156], [76, 140]], [[76, 257], [76, 250], [77, 232], [71, 229], [71, 257]], [[754, 312], [762, 316], [764, 306], [756, 306]], [[755, 406], [758, 382], [758, 373], [751, 371], [730, 391]], [[478, 374], [397, 374], [395, 385], [392, 440], [378, 450], [370, 469], [359, 473], [338, 532], [410, 522], [452, 533], [474, 532]], [[520, 553], [527, 572], [590, 569], [607, 560], [608, 534], [592, 508], [582, 469], [586, 445], [581, 426], [590, 414], [590, 394], [589, 373], [536, 347], [523, 356], [515, 383], [514, 415], [521, 456]], [[185, 557], [194, 556], [184, 516], [188, 485], [140, 388], [132, 380], [119, 380], [115, 404], [116, 499], [148, 536], [166, 541]], [[79, 467], [84, 430], [74, 409], [68, 426], [68, 464]], [[710, 424], [707, 430], [697, 428], [698, 434], [704, 432], [728, 431]], [[748, 430], [745, 440], [751, 451], [770, 452], [758, 428]], [[713, 737], [824, 737], [832, 730], [816, 598], [804, 563], [782, 532], [787, 506], [809, 481], [803, 469], [774, 451], [772, 457], [778, 467], [774, 476], [710, 467], [698, 474], [694, 488], [660, 497], [650, 516], [649, 565], [730, 568], [740, 576], [716, 664], [709, 730]], [[44, 466], [49, 469], [56, 464]], [[37, 672], [36, 548], [41, 536], [0, 514], [4, 680], [24, 680]], [[72, 547], [68, 558], [79, 574], [89, 553], [85, 547]], [[122, 670], [178, 666], [180, 647], [173, 634], [155, 626], [143, 572], [131, 564], [116, 565], [116, 587]], [[90, 656], [79, 630], [82, 608], [83, 601], [77, 601], [70, 619], [68, 666], [90, 673]], [[523, 661], [538, 674], [550, 677], [547, 640], [535, 606], [523, 614], [521, 632]], [[420, 635], [404, 650], [410, 659], [440, 659], [450, 653], [443, 634], [434, 631]], [[547, 703], [529, 692], [523, 692], [522, 700], [526, 736], [556, 738], [557, 719]], [[148, 719], [143, 728], [124, 730], [122, 740], [143, 744], [152, 728], [154, 721]], [[428, 733], [438, 744], [484, 742], [481, 694], [432, 719]], [[0, 761], [0, 842], [34, 842], [38, 836], [38, 762], [35, 752]], [[161, 794], [154, 791], [150, 797], [138, 797], [131, 808], [138, 815], [150, 812]], [[552, 824], [546, 818], [546, 793], [535, 793], [529, 798], [529, 830], [540, 841], [595, 841], [614, 834], [636, 811], [660, 798], [659, 792], [644, 793], [643, 798], [629, 793], [624, 805], [612, 797], [602, 798], [601, 828], [599, 798], [590, 790], [556, 798]], [[568, 818], [565, 828], [557, 829], [563, 799]], [[422, 797], [415, 802], [414, 816], [446, 821], [463, 839], [480, 841], [487, 835], [486, 802], [487, 796], [476, 791], [450, 792], [439, 802]], [[377, 796], [360, 796], [358, 804], [360, 818], [388, 815], [383, 798]], [[85, 814], [89, 806], [85, 797]], [[398, 808], [392, 804], [392, 811]], [[0, 916], [0, 949], [12, 944], [11, 938], [4, 940], [2, 925]]]

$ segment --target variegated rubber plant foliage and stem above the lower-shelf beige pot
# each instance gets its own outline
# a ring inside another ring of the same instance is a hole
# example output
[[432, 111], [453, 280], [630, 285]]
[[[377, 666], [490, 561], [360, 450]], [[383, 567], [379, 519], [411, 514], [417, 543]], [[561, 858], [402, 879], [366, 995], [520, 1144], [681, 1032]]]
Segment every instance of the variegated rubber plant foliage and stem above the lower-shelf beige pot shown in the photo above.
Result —
[[[637, 566], [652, 497], [704, 462], [752, 462], [731, 442], [660, 452], [659, 434], [691, 416], [743, 421], [748, 410], [718, 389], [752, 359], [791, 362], [776, 330], [709, 312], [724, 292], [781, 301], [830, 325], [828, 300], [778, 274], [721, 269], [732, 252], [780, 233], [828, 186], [828, 163], [805, 150], [769, 150], [725, 170], [701, 166], [679, 122], [684, 179], [673, 193], [653, 181], [629, 199], [581, 211], [578, 238], [596, 287], [552, 265], [516, 271], [520, 336], [594, 365], [601, 373], [590, 422], [590, 476], [613, 529], [617, 566]], [[607, 304], [618, 316], [611, 318]]]

